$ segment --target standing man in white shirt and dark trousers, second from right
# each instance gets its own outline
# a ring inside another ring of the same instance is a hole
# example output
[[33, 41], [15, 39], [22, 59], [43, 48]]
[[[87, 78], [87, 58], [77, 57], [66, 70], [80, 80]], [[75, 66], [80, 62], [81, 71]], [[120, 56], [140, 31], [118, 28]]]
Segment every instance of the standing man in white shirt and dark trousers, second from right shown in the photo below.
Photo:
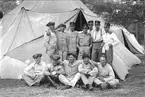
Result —
[[91, 36], [93, 38], [93, 47], [92, 47], [92, 60], [99, 62], [99, 58], [102, 54], [103, 37], [102, 37], [102, 29], [100, 29], [100, 21], [95, 21], [96, 29], [91, 32]]

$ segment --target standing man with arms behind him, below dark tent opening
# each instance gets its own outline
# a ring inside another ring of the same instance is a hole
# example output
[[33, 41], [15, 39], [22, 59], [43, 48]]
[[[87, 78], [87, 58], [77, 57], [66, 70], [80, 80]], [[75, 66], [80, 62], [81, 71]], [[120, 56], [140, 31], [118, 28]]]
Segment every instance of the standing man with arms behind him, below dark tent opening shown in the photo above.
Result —
[[78, 59], [82, 59], [84, 53], [90, 55], [90, 48], [92, 47], [91, 35], [87, 32], [88, 27], [84, 25], [83, 32], [78, 34], [77, 47], [79, 49]]

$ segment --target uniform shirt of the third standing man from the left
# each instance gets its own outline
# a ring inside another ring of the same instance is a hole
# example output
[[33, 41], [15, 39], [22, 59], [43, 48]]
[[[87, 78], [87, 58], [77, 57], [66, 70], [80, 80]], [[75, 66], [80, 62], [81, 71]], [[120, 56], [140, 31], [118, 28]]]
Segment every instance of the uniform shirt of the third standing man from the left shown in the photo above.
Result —
[[68, 39], [69, 39], [68, 49], [69, 49], [69, 51], [77, 51], [77, 36], [78, 36], [77, 31], [68, 33]]

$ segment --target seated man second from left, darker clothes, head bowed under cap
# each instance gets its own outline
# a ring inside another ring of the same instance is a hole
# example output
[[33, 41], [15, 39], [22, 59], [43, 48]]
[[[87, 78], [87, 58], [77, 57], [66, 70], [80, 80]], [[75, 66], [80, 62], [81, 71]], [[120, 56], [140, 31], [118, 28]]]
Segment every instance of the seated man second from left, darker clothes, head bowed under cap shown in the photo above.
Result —
[[44, 75], [45, 75], [45, 78], [49, 80], [48, 87], [51, 84], [55, 88], [58, 88], [58, 84], [57, 84], [59, 82], [58, 76], [60, 74], [65, 73], [64, 68], [62, 66], [62, 62], [60, 61], [59, 55], [56, 55], [56, 54], [51, 55], [50, 58], [51, 58], [51, 63], [47, 64], [44, 71]]

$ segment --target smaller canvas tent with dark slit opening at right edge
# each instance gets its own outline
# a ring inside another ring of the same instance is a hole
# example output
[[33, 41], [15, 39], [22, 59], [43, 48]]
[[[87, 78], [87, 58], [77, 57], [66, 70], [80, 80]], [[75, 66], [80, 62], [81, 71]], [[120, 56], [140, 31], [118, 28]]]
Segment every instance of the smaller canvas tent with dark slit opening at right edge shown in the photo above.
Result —
[[133, 54], [144, 54], [144, 48], [138, 43], [135, 36], [125, 28], [114, 25], [111, 27], [111, 31], [116, 34], [121, 43]]

